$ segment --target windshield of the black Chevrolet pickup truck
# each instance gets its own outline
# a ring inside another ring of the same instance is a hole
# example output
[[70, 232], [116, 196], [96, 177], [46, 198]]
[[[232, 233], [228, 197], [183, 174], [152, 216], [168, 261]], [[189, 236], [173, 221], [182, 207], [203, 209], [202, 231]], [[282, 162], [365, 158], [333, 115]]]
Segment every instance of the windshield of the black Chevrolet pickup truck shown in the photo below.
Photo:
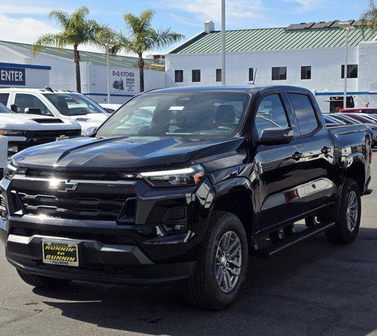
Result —
[[249, 100], [238, 92], [143, 94], [106, 120], [97, 137], [232, 137]]

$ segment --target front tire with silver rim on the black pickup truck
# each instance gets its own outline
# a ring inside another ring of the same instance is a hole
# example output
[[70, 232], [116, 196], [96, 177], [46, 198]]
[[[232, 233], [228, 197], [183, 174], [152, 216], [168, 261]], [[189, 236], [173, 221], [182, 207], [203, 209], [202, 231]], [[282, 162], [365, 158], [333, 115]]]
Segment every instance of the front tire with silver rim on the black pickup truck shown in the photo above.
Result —
[[241, 291], [247, 267], [248, 239], [241, 221], [234, 214], [215, 211], [185, 288], [187, 300], [204, 309], [228, 307]]

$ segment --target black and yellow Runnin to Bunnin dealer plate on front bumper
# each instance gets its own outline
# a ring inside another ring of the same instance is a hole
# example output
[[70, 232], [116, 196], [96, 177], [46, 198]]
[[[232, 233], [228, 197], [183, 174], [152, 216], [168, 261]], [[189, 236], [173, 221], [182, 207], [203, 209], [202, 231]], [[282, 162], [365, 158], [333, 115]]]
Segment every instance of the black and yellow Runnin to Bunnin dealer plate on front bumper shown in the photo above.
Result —
[[69, 240], [43, 239], [43, 262], [78, 267], [78, 243]]

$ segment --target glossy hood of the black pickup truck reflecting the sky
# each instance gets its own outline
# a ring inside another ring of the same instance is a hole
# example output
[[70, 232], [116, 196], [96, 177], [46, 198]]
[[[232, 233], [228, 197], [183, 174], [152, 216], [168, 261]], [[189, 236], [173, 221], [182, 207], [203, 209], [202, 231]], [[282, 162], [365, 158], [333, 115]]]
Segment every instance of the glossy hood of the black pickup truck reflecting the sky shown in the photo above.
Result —
[[183, 137], [76, 138], [27, 148], [13, 156], [20, 167], [97, 172], [161, 169], [234, 155], [243, 138], [190, 140]]

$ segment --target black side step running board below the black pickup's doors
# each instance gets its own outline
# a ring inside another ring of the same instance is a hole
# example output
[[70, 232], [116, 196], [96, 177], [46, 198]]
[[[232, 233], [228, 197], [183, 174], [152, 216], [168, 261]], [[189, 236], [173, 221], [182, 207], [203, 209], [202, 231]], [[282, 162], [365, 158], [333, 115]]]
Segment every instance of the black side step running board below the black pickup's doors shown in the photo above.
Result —
[[272, 244], [271, 246], [255, 251], [255, 255], [259, 258], [272, 257], [273, 255], [276, 255], [277, 253], [285, 250], [285, 248], [293, 246], [294, 244], [297, 244], [305, 239], [308, 239], [309, 237], [318, 235], [321, 232], [324, 232], [328, 230], [329, 228], [332, 228], [334, 225], [335, 223], [322, 223], [322, 224], [314, 225], [312, 228], [307, 228], [305, 230], [297, 232], [291, 237], [284, 238], [278, 241], [277, 243]]

